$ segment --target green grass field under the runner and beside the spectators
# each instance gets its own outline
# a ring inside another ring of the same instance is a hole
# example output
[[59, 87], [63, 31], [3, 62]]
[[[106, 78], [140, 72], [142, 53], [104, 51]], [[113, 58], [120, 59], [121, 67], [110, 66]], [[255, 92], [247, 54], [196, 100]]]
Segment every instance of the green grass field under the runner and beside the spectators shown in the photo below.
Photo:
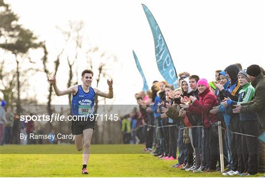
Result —
[[[66, 149], [62, 150], [61, 146]], [[57, 150], [55, 153], [59, 153], [59, 150], [61, 153], [66, 150], [70, 150], [69, 153], [74, 152], [75, 145], [1, 146], [0, 177], [222, 177], [220, 172], [191, 173], [171, 168], [176, 160], [159, 160], [150, 154], [143, 154], [143, 145], [92, 145], [91, 147], [92, 154], [88, 163], [90, 175], [87, 176], [81, 175], [81, 154], [47, 154], [49, 150], [51, 153], [52, 150]], [[108, 153], [106, 148], [112, 149], [110, 152], [116, 154], [103, 154]], [[28, 153], [28, 151], [32, 154], [14, 154]], [[255, 175], [255, 177], [262, 176], [262, 174]]]

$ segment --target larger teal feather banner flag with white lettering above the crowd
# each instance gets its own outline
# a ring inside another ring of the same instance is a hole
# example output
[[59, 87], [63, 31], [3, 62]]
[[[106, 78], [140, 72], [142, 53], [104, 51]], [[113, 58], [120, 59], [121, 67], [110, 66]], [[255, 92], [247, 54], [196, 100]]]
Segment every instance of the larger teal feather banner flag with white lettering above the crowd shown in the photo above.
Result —
[[144, 4], [142, 4], [142, 6], [153, 33], [159, 72], [167, 83], [173, 85], [175, 89], [177, 89], [178, 76], [164, 37], [150, 10]]

